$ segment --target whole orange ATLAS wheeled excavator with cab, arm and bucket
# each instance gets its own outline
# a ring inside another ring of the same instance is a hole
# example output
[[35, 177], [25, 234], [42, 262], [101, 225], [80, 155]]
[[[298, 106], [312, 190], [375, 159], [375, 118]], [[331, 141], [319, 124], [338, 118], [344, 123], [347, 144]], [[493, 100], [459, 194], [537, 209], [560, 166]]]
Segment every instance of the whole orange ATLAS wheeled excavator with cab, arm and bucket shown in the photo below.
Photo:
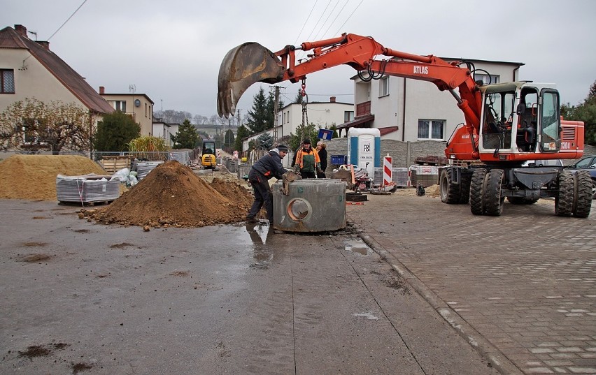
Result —
[[[310, 51], [308, 58], [297, 62], [297, 50]], [[233, 116], [242, 94], [255, 82], [302, 81], [304, 89], [307, 74], [341, 64], [353, 67], [362, 80], [383, 75], [425, 80], [455, 98], [465, 123], [455, 129], [445, 149], [453, 163], [442, 168], [439, 177], [444, 203], [469, 202], [472, 214], [499, 216], [505, 198], [513, 204], [555, 198], [558, 216], [590, 214], [590, 175], [522, 166], [535, 159], [578, 159], [583, 154], [583, 122], [562, 120], [555, 87], [528, 81], [476, 82], [467, 61], [400, 52], [355, 34], [287, 45], [278, 52], [243, 43], [230, 50], [220, 66], [218, 114]]]

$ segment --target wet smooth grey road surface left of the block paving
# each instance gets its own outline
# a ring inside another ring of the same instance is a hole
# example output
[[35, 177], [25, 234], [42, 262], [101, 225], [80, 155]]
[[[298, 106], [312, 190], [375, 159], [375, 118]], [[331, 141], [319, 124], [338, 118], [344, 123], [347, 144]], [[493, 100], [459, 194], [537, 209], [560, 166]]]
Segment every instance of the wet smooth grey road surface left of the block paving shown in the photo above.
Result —
[[498, 374], [353, 230], [0, 212], [0, 374]]

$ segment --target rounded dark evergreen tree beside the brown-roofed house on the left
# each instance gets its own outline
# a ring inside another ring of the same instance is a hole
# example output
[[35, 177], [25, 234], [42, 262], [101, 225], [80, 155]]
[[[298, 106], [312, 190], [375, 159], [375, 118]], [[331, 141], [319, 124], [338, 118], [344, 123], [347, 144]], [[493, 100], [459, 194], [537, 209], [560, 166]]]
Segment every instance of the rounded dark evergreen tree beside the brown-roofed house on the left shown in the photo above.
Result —
[[140, 135], [141, 125], [124, 112], [115, 111], [97, 124], [93, 147], [96, 151], [129, 151], [129, 142]]

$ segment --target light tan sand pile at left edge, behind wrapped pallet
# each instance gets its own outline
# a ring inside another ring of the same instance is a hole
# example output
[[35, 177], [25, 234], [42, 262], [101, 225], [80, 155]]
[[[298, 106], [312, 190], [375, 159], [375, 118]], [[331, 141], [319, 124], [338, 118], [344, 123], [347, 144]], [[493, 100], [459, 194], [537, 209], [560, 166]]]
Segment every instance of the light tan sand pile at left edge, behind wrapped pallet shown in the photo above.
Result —
[[106, 175], [85, 156], [13, 155], [0, 162], [0, 198], [58, 200], [56, 176]]

